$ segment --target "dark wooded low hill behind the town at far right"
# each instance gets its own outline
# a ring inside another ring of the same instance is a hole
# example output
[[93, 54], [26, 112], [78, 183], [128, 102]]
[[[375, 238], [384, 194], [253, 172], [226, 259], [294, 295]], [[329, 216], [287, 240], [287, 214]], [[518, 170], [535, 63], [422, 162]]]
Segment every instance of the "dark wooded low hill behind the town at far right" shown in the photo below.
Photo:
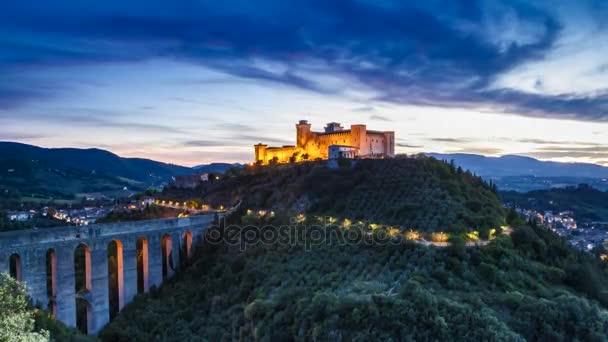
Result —
[[580, 222], [608, 222], [608, 192], [589, 185], [535, 190], [526, 193], [501, 192], [500, 196], [509, 206], [553, 212], [573, 211]]

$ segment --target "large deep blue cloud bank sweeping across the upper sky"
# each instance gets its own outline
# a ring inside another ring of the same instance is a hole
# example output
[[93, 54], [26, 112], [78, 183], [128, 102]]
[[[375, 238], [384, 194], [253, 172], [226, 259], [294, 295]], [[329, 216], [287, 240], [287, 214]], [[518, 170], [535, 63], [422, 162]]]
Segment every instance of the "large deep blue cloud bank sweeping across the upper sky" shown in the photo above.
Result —
[[[255, 4], [255, 5], [253, 5]], [[0, 72], [172, 58], [225, 73], [340, 94], [317, 75], [370, 87], [380, 101], [491, 108], [521, 115], [608, 120], [608, 95], [538, 95], [489, 85], [542, 59], [562, 24], [552, 2], [403, 1], [54, 1], [22, 0], [0, 13]], [[503, 16], [503, 17], [501, 17]], [[505, 17], [525, 23], [507, 39]], [[9, 34], [10, 33], [10, 34]], [[517, 39], [520, 38], [520, 39]], [[268, 68], [253, 61], [278, 63]], [[0, 80], [0, 106], [19, 94]], [[18, 84], [18, 83], [17, 83]]]

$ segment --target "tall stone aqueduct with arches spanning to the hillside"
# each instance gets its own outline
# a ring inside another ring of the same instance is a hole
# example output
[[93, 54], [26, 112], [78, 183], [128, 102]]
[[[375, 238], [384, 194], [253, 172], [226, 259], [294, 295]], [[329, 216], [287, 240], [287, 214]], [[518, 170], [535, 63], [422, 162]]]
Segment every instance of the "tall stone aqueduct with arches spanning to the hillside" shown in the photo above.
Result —
[[213, 220], [204, 215], [4, 232], [0, 272], [24, 281], [34, 303], [57, 319], [96, 334], [135, 295], [170, 277]]

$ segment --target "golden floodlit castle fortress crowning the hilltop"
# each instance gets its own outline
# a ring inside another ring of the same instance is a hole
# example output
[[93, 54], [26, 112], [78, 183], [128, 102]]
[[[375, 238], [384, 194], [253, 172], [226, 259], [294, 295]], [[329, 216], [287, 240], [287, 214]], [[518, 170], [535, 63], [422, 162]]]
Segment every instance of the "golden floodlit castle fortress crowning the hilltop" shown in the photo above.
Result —
[[306, 120], [296, 124], [296, 145], [268, 147], [257, 144], [255, 162], [289, 163], [335, 158], [385, 158], [395, 156], [395, 132], [371, 131], [366, 125], [344, 129], [330, 122], [324, 132], [313, 132]]

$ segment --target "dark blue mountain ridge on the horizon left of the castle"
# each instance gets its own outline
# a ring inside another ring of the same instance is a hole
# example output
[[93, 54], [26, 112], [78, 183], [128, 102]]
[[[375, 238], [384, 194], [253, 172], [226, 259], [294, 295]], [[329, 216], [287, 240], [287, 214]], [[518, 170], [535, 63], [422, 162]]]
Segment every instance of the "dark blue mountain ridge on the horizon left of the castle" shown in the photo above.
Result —
[[31, 168], [86, 171], [146, 184], [169, 181], [172, 176], [192, 172], [188, 167], [142, 158], [123, 158], [96, 148], [42, 148], [0, 142], [0, 167], [10, 168], [11, 164], [25, 164]]

